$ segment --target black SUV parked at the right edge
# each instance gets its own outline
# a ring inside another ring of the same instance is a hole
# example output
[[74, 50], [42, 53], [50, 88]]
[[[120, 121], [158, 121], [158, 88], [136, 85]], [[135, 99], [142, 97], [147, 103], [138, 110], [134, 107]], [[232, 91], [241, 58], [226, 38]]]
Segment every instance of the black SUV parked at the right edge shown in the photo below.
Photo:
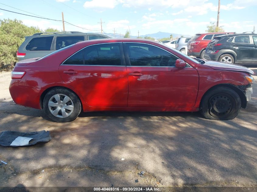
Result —
[[207, 46], [204, 59], [227, 63], [256, 63], [257, 34], [241, 33], [215, 37]]

